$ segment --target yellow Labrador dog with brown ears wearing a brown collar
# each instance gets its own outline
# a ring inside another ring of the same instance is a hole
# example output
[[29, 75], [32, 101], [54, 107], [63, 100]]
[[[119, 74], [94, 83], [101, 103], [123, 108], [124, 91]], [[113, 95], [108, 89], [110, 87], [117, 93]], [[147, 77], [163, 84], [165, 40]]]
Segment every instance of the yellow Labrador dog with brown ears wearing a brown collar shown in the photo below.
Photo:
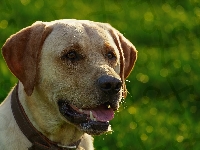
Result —
[[137, 50], [107, 23], [37, 21], [2, 54], [19, 79], [0, 105], [1, 150], [93, 150], [126, 97]]

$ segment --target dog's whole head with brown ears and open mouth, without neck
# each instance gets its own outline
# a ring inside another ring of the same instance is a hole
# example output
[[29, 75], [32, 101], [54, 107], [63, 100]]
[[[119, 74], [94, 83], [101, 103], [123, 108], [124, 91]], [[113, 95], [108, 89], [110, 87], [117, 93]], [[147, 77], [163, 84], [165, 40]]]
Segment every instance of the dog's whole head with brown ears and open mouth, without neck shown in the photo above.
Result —
[[78, 20], [36, 22], [2, 50], [28, 96], [37, 91], [58, 118], [89, 134], [108, 130], [137, 58], [109, 24]]

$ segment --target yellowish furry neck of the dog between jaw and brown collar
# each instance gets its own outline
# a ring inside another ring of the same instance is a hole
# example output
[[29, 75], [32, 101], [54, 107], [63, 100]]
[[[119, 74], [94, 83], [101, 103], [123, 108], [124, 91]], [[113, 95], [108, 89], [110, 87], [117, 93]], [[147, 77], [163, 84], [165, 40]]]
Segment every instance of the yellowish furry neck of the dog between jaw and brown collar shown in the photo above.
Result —
[[[58, 121], [57, 110], [49, 105], [47, 100], [42, 99], [44, 96], [42, 98], [39, 96], [41, 93], [35, 91], [31, 96], [27, 96], [21, 83], [19, 83], [18, 88], [20, 104], [30, 123], [47, 139], [62, 146], [80, 140], [83, 133], [61, 119]], [[54, 120], [57, 121], [54, 122]]]

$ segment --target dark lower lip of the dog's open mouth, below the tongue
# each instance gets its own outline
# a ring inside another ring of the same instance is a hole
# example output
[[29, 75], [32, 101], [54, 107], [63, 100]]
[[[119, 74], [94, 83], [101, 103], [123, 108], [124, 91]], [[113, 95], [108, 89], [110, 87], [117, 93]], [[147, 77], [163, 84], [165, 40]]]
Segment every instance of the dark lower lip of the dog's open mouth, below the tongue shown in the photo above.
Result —
[[[71, 123], [80, 127], [84, 131], [106, 132], [109, 128], [109, 121], [100, 122], [89, 119], [87, 114], [79, 113], [74, 110], [66, 101], [59, 100], [58, 107], [60, 113]], [[95, 133], [98, 133], [95, 132]]]

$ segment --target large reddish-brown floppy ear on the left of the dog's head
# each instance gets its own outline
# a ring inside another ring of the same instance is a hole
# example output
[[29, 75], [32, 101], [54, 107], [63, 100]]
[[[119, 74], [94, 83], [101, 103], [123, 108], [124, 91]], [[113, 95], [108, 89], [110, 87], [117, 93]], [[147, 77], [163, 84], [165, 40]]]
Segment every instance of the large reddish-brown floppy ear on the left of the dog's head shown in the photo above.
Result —
[[37, 80], [42, 45], [52, 31], [42, 22], [12, 35], [2, 47], [4, 59], [11, 72], [22, 82], [27, 95], [31, 95]]

